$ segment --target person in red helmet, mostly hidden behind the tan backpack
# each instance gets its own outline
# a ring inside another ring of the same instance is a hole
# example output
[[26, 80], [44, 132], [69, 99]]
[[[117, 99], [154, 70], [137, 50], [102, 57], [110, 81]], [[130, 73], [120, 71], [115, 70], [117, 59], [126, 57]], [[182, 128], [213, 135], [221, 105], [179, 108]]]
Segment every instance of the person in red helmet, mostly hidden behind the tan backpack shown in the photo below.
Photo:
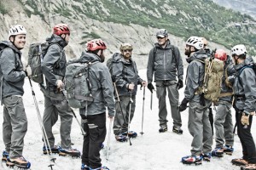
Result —
[[236, 71], [232, 59], [223, 49], [217, 49], [214, 57], [224, 61], [224, 74], [221, 84], [221, 94], [216, 105], [216, 115], [214, 117], [215, 127], [215, 149], [212, 150], [212, 156], [223, 157], [224, 153], [232, 155], [233, 153], [233, 122], [231, 115], [232, 107], [232, 86], [227, 83], [227, 78], [235, 75]]

